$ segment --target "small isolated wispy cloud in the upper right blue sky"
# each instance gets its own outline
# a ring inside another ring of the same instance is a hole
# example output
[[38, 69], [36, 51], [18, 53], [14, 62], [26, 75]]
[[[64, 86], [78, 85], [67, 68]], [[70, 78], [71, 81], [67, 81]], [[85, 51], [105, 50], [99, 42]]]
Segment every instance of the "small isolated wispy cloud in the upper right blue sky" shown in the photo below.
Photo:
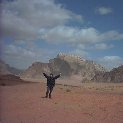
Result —
[[96, 12], [100, 15], [107, 15], [113, 12], [112, 8], [109, 7], [99, 7], [96, 9]]

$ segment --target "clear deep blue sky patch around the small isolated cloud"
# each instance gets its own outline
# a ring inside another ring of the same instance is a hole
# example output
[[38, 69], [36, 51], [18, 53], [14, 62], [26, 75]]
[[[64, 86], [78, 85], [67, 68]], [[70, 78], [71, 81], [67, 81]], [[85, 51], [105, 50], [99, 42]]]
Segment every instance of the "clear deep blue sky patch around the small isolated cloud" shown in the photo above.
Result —
[[[82, 15], [86, 21], [90, 22], [88, 26], [93, 26], [101, 31], [115, 29], [122, 31], [123, 26], [123, 0], [57, 0], [65, 8]], [[99, 14], [96, 9], [100, 7], [110, 8], [109, 14]], [[102, 25], [102, 24], [105, 24]]]

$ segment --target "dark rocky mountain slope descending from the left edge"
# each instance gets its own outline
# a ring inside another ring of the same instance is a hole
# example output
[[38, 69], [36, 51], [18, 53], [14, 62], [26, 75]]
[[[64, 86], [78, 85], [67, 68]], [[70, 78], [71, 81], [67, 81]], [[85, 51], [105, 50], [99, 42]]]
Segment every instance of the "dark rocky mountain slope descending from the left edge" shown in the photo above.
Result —
[[19, 75], [22, 70], [10, 67], [8, 64], [0, 60], [0, 74], [14, 74]]

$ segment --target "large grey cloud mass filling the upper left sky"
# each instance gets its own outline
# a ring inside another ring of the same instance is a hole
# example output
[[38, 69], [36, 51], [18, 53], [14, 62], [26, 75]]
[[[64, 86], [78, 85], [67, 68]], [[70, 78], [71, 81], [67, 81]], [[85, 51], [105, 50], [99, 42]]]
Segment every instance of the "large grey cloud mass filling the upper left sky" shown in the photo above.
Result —
[[83, 17], [56, 4], [54, 0], [3, 1], [2, 33], [15, 40], [39, 38], [41, 28], [64, 25], [69, 20], [82, 21]]

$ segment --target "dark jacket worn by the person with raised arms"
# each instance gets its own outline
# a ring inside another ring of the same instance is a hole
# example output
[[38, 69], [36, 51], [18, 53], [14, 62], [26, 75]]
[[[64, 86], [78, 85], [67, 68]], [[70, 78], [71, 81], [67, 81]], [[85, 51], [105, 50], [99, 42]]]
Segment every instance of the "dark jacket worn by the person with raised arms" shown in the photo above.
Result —
[[51, 76], [46, 75], [45, 73], [43, 73], [43, 75], [47, 78], [47, 86], [48, 87], [54, 87], [55, 80], [60, 77], [60, 75], [51, 77]]

